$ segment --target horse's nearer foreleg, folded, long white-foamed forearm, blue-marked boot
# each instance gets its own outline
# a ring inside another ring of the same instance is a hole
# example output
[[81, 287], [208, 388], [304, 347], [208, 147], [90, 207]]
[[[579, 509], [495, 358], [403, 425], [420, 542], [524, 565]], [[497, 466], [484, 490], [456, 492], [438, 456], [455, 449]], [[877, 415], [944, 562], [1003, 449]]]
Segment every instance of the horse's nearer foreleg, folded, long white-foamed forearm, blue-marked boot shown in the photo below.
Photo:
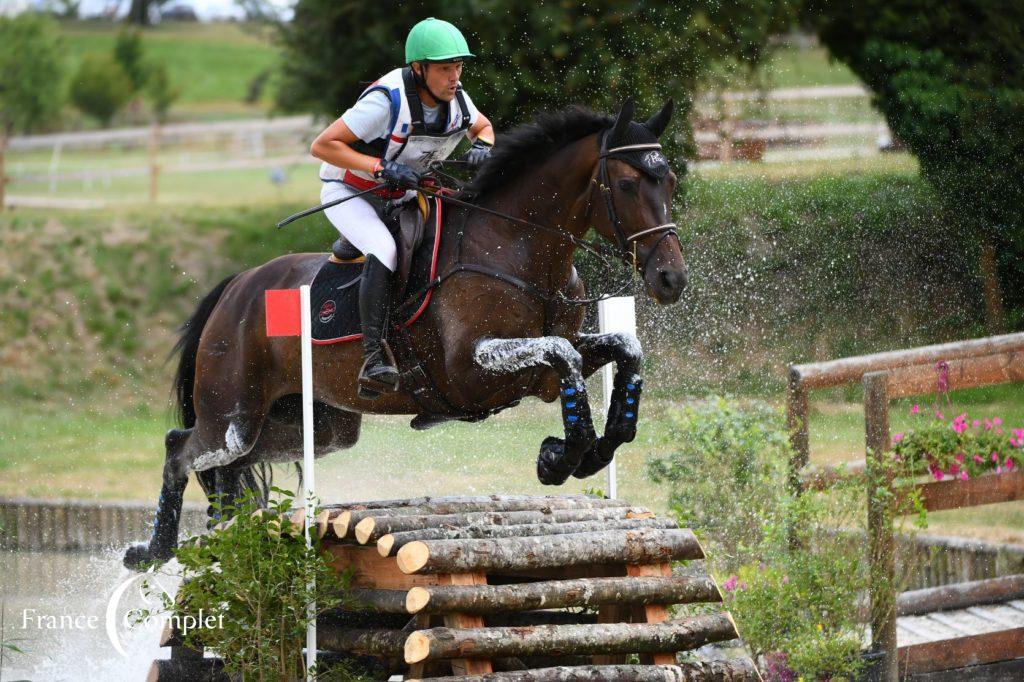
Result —
[[564, 483], [580, 465], [584, 453], [597, 440], [580, 352], [558, 336], [484, 339], [477, 342], [473, 358], [490, 372], [512, 374], [547, 366], [558, 374], [565, 438], [549, 436], [544, 439], [537, 458], [537, 477], [546, 485]]

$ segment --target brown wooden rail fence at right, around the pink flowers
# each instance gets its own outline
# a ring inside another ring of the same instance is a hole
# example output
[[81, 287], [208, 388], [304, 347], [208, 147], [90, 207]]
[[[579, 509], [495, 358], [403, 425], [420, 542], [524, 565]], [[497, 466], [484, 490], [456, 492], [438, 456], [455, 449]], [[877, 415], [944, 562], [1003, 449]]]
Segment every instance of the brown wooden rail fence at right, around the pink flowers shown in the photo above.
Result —
[[[880, 679], [1021, 679], [1024, 574], [896, 594], [893, 517], [905, 506], [895, 500], [892, 481], [885, 479], [884, 458], [892, 442], [889, 402], [935, 392], [938, 363], [947, 368], [948, 390], [1021, 382], [1024, 334], [791, 366], [791, 484], [798, 491], [823, 489], [840, 476], [864, 474], [867, 481], [876, 481], [866, 488], [870, 651], [879, 657]], [[809, 392], [857, 381], [863, 387], [865, 460], [842, 469], [810, 469]], [[961, 509], [1024, 499], [1024, 473], [932, 480], [914, 487], [929, 511]]]

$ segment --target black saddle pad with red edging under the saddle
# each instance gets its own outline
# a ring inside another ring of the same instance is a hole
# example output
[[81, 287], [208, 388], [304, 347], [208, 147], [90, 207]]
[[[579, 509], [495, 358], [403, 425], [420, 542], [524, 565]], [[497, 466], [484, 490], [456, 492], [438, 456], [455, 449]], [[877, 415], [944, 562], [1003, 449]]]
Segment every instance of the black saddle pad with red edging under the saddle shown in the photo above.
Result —
[[[440, 202], [432, 200], [430, 202], [430, 215], [427, 216], [423, 230], [423, 241], [413, 255], [409, 283], [406, 285], [406, 291], [392, 300], [393, 307], [402, 305], [409, 294], [422, 289], [428, 282], [437, 276], [437, 252], [440, 240]], [[362, 338], [359, 331], [359, 275], [361, 273], [361, 258], [356, 261], [336, 263], [330, 260], [329, 254], [324, 255], [324, 264], [309, 287], [313, 343], [326, 345]], [[402, 321], [407, 327], [410, 327], [423, 314], [430, 302], [432, 291], [430, 290], [421, 296], [413, 312], [409, 313], [407, 319]], [[392, 319], [394, 318], [392, 317]]]

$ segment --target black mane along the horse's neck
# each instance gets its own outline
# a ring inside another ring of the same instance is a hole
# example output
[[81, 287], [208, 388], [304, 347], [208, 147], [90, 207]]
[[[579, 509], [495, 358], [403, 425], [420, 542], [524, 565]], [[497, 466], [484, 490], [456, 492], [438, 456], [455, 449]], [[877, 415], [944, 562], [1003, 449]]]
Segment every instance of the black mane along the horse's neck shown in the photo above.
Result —
[[538, 114], [529, 123], [499, 135], [490, 158], [465, 190], [479, 198], [526, 169], [536, 168], [566, 144], [611, 127], [614, 121], [610, 116], [580, 105]]

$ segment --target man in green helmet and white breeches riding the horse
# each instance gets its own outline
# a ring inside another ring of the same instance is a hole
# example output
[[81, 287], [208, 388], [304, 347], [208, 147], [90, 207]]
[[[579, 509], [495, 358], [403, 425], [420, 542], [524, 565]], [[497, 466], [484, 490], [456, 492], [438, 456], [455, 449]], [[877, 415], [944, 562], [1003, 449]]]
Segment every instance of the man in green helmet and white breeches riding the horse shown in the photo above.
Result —
[[413, 199], [416, 193], [409, 188], [464, 137], [473, 140], [465, 158], [473, 166], [483, 163], [494, 145], [490, 122], [459, 82], [463, 61], [472, 56], [466, 39], [451, 24], [433, 17], [420, 22], [406, 39], [407, 66], [372, 83], [310, 148], [324, 162], [322, 203], [386, 183], [325, 211], [342, 237], [366, 255], [359, 283], [361, 397], [377, 397], [398, 384], [398, 371], [381, 347], [390, 276], [397, 264], [394, 238], [381, 220], [385, 202]]

